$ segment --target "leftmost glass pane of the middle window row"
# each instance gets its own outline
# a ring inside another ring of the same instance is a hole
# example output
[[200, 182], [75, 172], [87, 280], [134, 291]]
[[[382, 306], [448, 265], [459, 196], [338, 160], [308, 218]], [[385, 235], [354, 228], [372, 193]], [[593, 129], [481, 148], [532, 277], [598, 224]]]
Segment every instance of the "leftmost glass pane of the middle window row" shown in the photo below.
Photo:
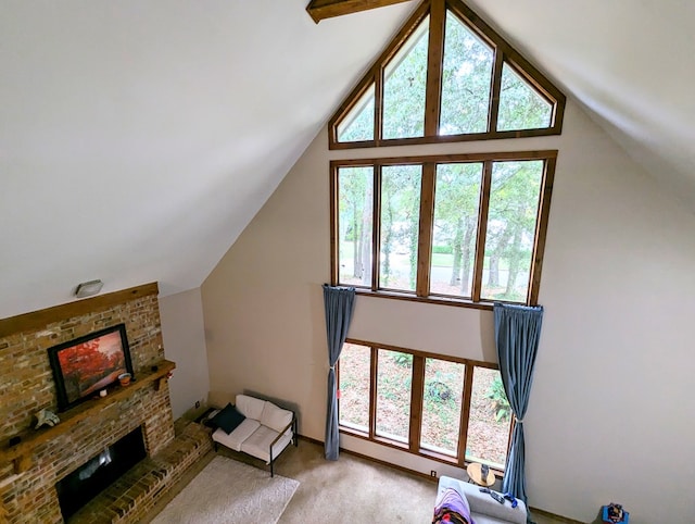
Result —
[[374, 167], [338, 171], [338, 279], [371, 286]]

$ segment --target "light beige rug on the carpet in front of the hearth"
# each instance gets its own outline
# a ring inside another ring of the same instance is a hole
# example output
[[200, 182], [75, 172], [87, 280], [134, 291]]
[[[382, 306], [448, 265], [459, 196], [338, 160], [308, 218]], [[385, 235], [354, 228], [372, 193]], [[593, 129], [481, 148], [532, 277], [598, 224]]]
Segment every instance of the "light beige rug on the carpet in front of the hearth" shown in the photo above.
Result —
[[300, 483], [215, 457], [152, 524], [278, 522]]

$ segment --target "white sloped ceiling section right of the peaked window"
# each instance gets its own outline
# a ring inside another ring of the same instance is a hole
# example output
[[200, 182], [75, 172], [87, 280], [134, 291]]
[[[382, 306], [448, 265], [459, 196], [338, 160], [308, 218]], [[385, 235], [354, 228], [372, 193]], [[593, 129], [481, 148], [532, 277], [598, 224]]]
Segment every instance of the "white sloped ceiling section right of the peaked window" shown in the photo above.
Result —
[[695, 3], [469, 0], [695, 212]]

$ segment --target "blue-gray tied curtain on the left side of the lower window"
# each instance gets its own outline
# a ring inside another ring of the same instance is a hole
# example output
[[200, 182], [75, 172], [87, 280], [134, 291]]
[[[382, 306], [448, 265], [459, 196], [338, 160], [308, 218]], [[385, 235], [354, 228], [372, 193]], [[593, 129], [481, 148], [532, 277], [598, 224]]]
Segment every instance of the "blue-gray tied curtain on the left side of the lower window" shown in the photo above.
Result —
[[336, 363], [343, 349], [348, 329], [355, 309], [354, 287], [333, 287], [324, 284], [324, 307], [326, 308], [326, 335], [328, 337], [328, 408], [326, 412], [326, 459], [338, 460], [338, 399], [336, 386]]

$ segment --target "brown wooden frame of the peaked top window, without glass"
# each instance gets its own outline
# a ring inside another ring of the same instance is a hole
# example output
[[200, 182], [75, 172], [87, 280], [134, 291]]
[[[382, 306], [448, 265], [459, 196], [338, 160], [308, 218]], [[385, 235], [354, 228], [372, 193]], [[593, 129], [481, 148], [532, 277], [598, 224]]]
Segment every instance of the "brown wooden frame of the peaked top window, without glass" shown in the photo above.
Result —
[[[491, 86], [488, 129], [484, 133], [438, 135], [441, 111], [442, 64], [444, 59], [444, 37], [446, 12], [451, 11], [471, 30], [484, 40], [494, 51], [493, 82]], [[383, 72], [389, 61], [413, 35], [419, 24], [430, 16], [429, 50], [427, 66], [427, 88], [425, 99], [425, 136], [413, 138], [383, 139], [382, 99]], [[500, 108], [500, 89], [502, 66], [506, 63], [553, 107], [551, 125], [543, 128], [497, 130]], [[354, 108], [369, 86], [375, 85], [375, 133], [372, 140], [341, 142], [338, 140], [338, 124]], [[446, 144], [455, 141], [491, 140], [504, 138], [527, 138], [536, 136], [559, 135], [563, 132], [563, 120], [566, 105], [565, 95], [555, 85], [516, 51], [502, 36], [478, 16], [460, 0], [425, 0], [403, 25], [402, 29], [387, 46], [386, 50], [374, 62], [369, 71], [357, 83], [355, 88], [340, 105], [328, 123], [328, 145], [331, 150], [377, 148], [420, 144]]]

